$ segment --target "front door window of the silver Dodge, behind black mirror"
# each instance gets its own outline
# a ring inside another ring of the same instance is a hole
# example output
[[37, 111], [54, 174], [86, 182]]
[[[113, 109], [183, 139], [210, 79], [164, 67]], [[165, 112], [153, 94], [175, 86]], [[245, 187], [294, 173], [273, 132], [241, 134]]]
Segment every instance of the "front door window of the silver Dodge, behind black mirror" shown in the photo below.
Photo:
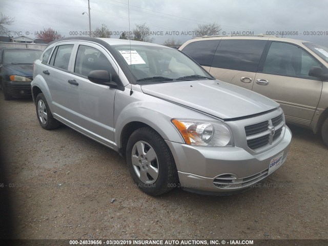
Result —
[[93, 47], [80, 45], [76, 54], [74, 72], [87, 77], [94, 70], [106, 70], [112, 74], [113, 81], [119, 82], [117, 73], [103, 52]]

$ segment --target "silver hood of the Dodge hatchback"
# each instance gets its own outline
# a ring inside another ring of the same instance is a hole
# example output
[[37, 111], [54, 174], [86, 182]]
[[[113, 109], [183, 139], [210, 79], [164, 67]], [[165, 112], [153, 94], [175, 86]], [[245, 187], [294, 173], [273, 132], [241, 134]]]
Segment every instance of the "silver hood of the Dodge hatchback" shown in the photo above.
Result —
[[221, 119], [249, 116], [279, 107], [268, 97], [220, 80], [142, 85], [141, 90]]

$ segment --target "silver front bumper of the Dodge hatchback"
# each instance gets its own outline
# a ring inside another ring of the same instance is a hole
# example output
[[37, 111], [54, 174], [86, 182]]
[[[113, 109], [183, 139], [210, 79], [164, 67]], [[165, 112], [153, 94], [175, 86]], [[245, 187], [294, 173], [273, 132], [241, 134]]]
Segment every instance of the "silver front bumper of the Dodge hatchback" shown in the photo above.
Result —
[[251, 154], [237, 147], [195, 147], [166, 142], [174, 156], [182, 189], [200, 194], [228, 195], [250, 189], [271, 175], [268, 174], [270, 161], [282, 152], [282, 163], [286, 160], [291, 139], [292, 133], [285, 127], [279, 144], [260, 154]]

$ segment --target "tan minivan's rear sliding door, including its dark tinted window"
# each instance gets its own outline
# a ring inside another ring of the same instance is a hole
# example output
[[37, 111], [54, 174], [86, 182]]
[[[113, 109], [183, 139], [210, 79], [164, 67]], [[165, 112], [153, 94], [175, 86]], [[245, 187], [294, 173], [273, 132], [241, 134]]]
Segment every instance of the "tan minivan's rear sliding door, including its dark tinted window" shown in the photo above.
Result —
[[216, 49], [210, 73], [224, 82], [252, 90], [267, 40], [222, 39]]

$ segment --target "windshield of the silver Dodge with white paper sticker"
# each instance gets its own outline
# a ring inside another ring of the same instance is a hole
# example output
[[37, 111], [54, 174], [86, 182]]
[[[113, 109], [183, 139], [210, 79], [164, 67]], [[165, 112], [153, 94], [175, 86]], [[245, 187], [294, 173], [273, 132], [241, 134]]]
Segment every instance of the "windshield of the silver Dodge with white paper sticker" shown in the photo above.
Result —
[[127, 65], [130, 65], [129, 68], [137, 84], [214, 79], [195, 61], [175, 49], [149, 45], [132, 45], [131, 48], [130, 45], [113, 47]]

